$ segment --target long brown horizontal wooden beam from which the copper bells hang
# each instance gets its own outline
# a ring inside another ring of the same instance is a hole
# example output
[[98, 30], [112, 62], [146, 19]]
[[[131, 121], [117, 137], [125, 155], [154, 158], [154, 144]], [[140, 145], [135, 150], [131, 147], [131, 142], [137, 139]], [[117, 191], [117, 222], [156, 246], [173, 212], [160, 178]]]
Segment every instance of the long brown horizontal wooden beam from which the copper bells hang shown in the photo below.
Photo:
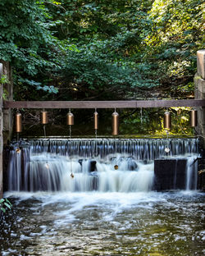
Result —
[[4, 101], [4, 108], [205, 107], [205, 99], [121, 101]]

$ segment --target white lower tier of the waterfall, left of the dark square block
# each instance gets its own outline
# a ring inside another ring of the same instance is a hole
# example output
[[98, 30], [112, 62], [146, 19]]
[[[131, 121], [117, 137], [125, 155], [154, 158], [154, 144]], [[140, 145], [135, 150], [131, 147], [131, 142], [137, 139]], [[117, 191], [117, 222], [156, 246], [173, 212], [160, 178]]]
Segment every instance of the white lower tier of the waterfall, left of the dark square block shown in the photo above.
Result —
[[[9, 190], [21, 191], [25, 187], [30, 191], [136, 192], [151, 190], [153, 185], [153, 162], [144, 164], [120, 156], [110, 162], [98, 159], [82, 159], [79, 162], [78, 158], [45, 153], [30, 157], [22, 182], [20, 158], [21, 153], [16, 154], [9, 166]], [[116, 163], [117, 170], [114, 168]], [[71, 173], [74, 178], [71, 178]]]

